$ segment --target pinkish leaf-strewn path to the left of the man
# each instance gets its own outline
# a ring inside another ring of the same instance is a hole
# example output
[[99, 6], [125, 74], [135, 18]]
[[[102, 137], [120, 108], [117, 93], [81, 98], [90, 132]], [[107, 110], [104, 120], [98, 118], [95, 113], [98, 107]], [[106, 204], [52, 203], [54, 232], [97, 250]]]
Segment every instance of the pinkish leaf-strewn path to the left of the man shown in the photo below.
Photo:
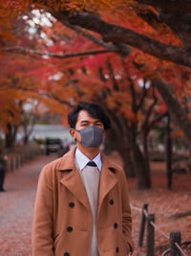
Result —
[[41, 156], [6, 175], [0, 193], [0, 256], [32, 255], [32, 214], [39, 171], [53, 157]]

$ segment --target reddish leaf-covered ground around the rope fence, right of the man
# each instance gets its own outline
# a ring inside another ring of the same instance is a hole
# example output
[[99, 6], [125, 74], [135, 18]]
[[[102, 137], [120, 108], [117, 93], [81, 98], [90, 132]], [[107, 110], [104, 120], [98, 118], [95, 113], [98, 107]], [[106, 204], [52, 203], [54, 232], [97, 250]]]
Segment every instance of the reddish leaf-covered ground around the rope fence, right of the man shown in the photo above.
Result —
[[[111, 156], [112, 159], [121, 165], [122, 162], [117, 153]], [[136, 178], [129, 178], [131, 203], [138, 208], [142, 208], [143, 203], [148, 203], [148, 212], [155, 214], [155, 223], [165, 234], [158, 230], [155, 232], [155, 256], [159, 256], [167, 248], [169, 234], [172, 230], [179, 230], [181, 233], [181, 242], [191, 242], [191, 215], [178, 219], [169, 219], [170, 216], [186, 211], [191, 211], [191, 173], [174, 174], [172, 189], [166, 188], [165, 163], [152, 162], [152, 189], [138, 190]], [[136, 244], [136, 250], [133, 256], [143, 256], [146, 246], [146, 232], [144, 234], [143, 247], [138, 247], [138, 231], [141, 212], [132, 208], [133, 217], [133, 237]], [[183, 250], [191, 255], [191, 244], [182, 246]], [[169, 254], [166, 254], [169, 255]]]

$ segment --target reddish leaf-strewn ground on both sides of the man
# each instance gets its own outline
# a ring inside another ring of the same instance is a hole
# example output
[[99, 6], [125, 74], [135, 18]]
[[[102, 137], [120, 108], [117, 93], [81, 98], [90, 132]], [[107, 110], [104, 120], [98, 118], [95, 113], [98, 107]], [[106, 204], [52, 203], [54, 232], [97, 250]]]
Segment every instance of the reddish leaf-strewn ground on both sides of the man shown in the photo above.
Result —
[[[5, 193], [0, 193], [0, 256], [31, 256], [32, 255], [32, 214], [39, 171], [54, 156], [40, 156], [25, 164], [22, 168], [9, 172], [5, 181]], [[116, 155], [112, 159], [120, 163]], [[191, 240], [191, 217], [168, 220], [168, 217], [181, 211], [190, 210], [191, 205], [191, 174], [175, 175], [174, 189], [165, 188], [163, 164], [154, 164], [152, 190], [138, 191], [136, 179], [129, 179], [131, 202], [141, 207], [149, 203], [151, 213], [156, 213], [156, 222], [166, 234], [170, 230], [181, 231], [182, 240]], [[138, 227], [140, 215], [133, 210], [133, 237], [138, 243]], [[168, 244], [165, 238], [156, 235], [156, 246]], [[145, 245], [145, 242], [144, 242]], [[144, 256], [145, 249], [136, 245], [133, 256]], [[161, 255], [157, 251], [156, 256]], [[77, 255], [76, 255], [77, 256]]]

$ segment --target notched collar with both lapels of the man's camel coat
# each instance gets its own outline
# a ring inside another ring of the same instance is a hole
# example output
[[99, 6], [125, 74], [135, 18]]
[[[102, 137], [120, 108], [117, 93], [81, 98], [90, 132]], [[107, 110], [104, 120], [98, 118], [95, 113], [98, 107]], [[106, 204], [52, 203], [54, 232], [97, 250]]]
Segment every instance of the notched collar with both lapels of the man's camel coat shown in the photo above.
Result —
[[[74, 151], [76, 147], [66, 153], [62, 158], [57, 167], [58, 171], [65, 172], [71, 171], [67, 175], [63, 175], [60, 179], [60, 182], [66, 186], [74, 197], [77, 198], [81, 203], [83, 203], [87, 208], [90, 209], [88, 197], [75, 165], [74, 161]], [[112, 190], [112, 188], [117, 184], [118, 178], [115, 175], [115, 170], [117, 166], [109, 161], [109, 159], [101, 152], [101, 159], [102, 159], [102, 170], [100, 176], [100, 185], [99, 185], [99, 208], [103, 202], [103, 199], [106, 195]]]

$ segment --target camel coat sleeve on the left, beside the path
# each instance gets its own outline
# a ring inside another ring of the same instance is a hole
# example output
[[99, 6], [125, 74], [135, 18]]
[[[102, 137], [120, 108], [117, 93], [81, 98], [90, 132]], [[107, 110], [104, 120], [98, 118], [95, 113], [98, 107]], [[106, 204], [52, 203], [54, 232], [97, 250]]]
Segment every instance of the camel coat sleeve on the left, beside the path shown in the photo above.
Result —
[[42, 169], [34, 204], [32, 256], [53, 256], [53, 178], [50, 168]]

